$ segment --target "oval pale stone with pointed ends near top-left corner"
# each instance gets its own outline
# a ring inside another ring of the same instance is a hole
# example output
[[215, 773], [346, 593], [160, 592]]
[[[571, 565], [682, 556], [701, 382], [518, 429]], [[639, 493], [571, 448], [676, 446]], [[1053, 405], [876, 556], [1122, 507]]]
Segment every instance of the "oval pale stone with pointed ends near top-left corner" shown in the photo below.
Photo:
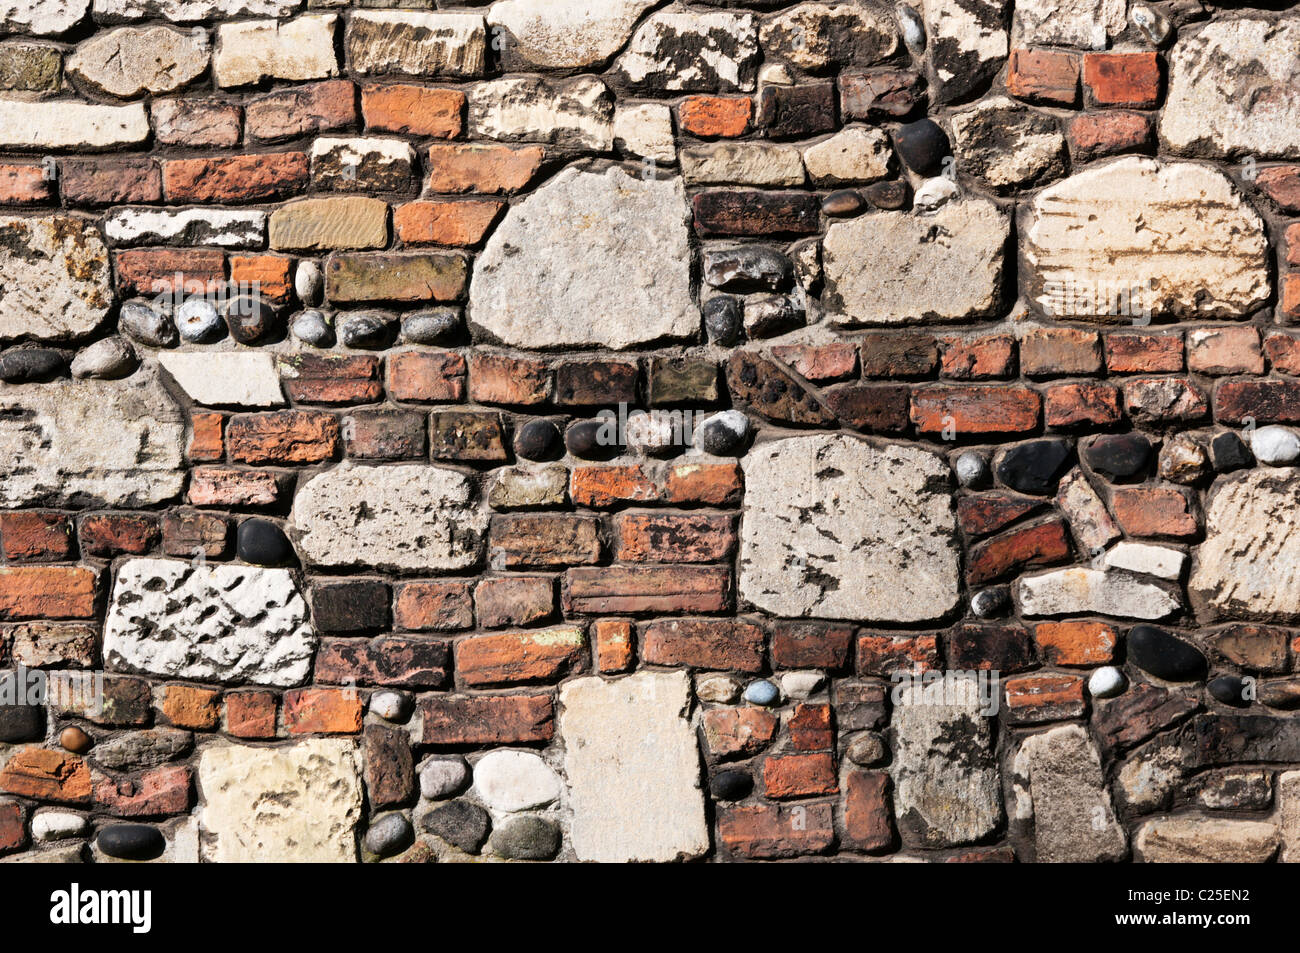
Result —
[[125, 26], [82, 43], [66, 69], [100, 92], [129, 99], [179, 90], [203, 74], [209, 55], [205, 33]]

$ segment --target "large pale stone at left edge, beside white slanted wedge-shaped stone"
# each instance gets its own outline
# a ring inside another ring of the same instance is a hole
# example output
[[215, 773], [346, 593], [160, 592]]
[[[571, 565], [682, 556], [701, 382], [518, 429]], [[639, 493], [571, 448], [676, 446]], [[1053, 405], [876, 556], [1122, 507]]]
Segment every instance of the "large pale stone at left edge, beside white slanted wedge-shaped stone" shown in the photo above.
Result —
[[0, 389], [0, 506], [138, 507], [185, 482], [185, 416], [148, 368]]

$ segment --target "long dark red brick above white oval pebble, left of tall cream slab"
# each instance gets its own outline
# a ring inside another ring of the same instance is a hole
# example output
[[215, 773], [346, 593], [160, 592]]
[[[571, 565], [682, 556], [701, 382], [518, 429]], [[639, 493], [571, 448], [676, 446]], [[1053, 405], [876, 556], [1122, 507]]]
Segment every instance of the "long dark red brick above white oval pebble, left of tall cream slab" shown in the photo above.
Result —
[[555, 733], [550, 694], [422, 696], [420, 712], [426, 745], [519, 745]]

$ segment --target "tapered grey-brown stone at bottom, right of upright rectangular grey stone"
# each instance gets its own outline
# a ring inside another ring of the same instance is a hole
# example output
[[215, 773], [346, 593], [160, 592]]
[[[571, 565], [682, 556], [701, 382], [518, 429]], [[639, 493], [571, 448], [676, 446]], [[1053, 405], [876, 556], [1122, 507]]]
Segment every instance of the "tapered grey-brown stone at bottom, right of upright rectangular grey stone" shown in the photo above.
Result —
[[1076, 724], [1031, 735], [1013, 767], [1015, 815], [1034, 820], [1039, 863], [1097, 863], [1124, 857], [1101, 755]]

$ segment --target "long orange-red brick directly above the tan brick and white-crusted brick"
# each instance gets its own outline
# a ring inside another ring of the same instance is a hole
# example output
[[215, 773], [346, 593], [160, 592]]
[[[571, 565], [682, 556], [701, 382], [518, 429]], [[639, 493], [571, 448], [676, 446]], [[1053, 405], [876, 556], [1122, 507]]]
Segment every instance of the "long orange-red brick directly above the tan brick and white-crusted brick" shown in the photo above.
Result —
[[168, 202], [238, 203], [280, 199], [307, 187], [306, 152], [208, 159], [168, 159], [162, 189]]

